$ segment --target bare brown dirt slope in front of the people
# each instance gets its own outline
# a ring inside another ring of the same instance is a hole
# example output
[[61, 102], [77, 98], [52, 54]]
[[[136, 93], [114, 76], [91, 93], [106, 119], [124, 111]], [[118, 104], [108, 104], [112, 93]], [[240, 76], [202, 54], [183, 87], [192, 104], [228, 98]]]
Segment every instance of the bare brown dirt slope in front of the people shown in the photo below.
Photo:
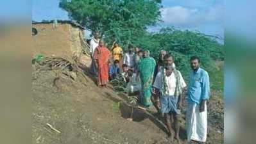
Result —
[[[98, 88], [86, 69], [85, 74], [87, 81], [83, 84], [33, 65], [33, 143], [169, 143], [157, 115], [134, 109], [133, 121], [127, 120], [132, 108], [125, 97], [117, 95], [111, 86]], [[223, 131], [218, 129], [216, 124], [210, 127], [208, 143], [223, 143]], [[185, 143], [184, 125], [180, 137]]]

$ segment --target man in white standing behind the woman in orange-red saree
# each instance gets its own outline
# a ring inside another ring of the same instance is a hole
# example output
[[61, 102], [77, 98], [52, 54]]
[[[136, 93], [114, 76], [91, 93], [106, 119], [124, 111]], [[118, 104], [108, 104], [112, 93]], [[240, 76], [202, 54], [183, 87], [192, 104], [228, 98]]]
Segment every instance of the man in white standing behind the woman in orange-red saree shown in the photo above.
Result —
[[92, 58], [92, 63], [90, 65], [90, 72], [94, 75], [97, 76], [97, 68], [96, 68], [96, 62], [93, 59], [93, 54], [94, 51], [96, 49], [96, 47], [98, 47], [99, 45], [99, 31], [94, 31], [93, 33], [94, 37], [92, 38], [92, 40], [90, 40], [90, 58]]

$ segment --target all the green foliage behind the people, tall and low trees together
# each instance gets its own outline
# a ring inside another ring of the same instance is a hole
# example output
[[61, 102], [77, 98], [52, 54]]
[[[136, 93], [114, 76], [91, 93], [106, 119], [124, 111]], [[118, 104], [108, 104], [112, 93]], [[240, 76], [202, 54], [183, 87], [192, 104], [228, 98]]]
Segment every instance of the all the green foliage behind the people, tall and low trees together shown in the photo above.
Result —
[[173, 27], [149, 33], [147, 28], [161, 21], [161, 0], [61, 0], [60, 8], [91, 31], [99, 30], [108, 44], [117, 41], [125, 50], [128, 45], [148, 49], [156, 60], [160, 50], [171, 52], [176, 67], [189, 77], [191, 56], [199, 56], [209, 71], [212, 88], [223, 90], [223, 70], [216, 60], [224, 60], [223, 45], [216, 36], [199, 31], [182, 31]]

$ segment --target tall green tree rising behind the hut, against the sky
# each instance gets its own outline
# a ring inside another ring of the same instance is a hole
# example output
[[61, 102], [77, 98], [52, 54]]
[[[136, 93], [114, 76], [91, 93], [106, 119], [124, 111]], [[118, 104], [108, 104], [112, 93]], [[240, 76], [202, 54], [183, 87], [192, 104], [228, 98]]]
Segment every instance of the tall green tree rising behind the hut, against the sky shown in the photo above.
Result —
[[85, 28], [103, 32], [108, 43], [123, 46], [142, 37], [160, 20], [159, 0], [61, 0], [60, 8]]

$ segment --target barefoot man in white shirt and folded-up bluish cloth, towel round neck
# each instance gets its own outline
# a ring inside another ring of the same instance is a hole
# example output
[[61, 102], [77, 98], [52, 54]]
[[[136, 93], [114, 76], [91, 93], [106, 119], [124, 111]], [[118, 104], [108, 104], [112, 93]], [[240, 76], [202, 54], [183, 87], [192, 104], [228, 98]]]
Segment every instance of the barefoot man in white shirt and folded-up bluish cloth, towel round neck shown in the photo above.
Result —
[[[172, 63], [167, 62], [169, 58], [172, 58], [169, 54], [164, 57], [165, 66], [158, 72], [153, 87], [155, 88], [155, 93], [160, 97], [160, 111], [164, 114], [169, 138], [171, 141], [176, 138], [180, 143], [178, 116], [180, 116], [182, 89], [186, 87], [186, 84], [180, 71], [176, 70]], [[171, 129], [172, 117], [175, 124], [175, 132]]]

